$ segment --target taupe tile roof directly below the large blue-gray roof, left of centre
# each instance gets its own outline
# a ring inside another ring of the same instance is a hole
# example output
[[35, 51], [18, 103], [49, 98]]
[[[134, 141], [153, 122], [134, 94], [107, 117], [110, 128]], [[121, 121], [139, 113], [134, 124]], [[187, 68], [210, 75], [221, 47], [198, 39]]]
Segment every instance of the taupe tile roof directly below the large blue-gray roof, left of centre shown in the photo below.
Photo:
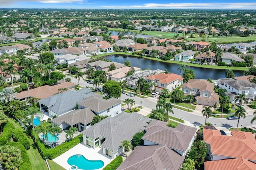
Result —
[[89, 108], [76, 109], [64, 115], [56, 117], [51, 121], [56, 125], [60, 125], [62, 122], [65, 122], [70, 126], [75, 125], [78, 122], [87, 125], [88, 123], [92, 122], [92, 118], [94, 117], [94, 115], [95, 114]]

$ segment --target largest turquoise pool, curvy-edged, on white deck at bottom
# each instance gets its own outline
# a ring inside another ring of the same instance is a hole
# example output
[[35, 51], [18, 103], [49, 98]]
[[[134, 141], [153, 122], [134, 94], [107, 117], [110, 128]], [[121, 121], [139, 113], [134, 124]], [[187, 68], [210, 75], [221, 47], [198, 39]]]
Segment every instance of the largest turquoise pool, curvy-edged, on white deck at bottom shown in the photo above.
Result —
[[70, 166], [76, 165], [81, 170], [95, 170], [102, 168], [104, 162], [102, 160], [88, 160], [83, 155], [75, 154], [68, 158]]

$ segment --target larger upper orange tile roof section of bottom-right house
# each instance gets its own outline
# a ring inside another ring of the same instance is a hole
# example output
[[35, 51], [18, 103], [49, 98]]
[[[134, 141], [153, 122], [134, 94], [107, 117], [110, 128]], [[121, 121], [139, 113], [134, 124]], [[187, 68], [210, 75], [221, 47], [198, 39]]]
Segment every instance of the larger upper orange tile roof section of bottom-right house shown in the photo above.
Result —
[[[220, 135], [220, 131], [203, 129], [204, 142], [210, 143], [214, 155], [256, 161], [256, 141], [251, 132], [231, 131], [233, 136]], [[232, 147], [230, 147], [232, 146]]]

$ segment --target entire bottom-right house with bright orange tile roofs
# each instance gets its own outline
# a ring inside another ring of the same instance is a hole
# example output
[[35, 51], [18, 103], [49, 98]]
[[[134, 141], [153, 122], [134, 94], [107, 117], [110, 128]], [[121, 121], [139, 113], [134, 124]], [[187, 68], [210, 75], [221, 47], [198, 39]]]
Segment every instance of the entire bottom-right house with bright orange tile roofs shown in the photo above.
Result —
[[[255, 169], [256, 143], [252, 133], [231, 133], [232, 136], [228, 136], [221, 135], [218, 130], [203, 129], [204, 142], [208, 147], [206, 159], [211, 160], [204, 162], [205, 170]], [[225, 166], [221, 167], [224, 163]]]

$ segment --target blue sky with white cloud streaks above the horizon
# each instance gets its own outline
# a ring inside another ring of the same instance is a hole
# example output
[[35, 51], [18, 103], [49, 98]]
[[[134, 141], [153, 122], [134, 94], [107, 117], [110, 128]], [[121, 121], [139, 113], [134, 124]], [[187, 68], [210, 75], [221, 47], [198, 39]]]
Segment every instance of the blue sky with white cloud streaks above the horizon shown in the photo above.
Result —
[[[195, 3], [194, 3], [195, 2]], [[0, 0], [0, 8], [237, 9], [256, 10], [252, 0]]]

